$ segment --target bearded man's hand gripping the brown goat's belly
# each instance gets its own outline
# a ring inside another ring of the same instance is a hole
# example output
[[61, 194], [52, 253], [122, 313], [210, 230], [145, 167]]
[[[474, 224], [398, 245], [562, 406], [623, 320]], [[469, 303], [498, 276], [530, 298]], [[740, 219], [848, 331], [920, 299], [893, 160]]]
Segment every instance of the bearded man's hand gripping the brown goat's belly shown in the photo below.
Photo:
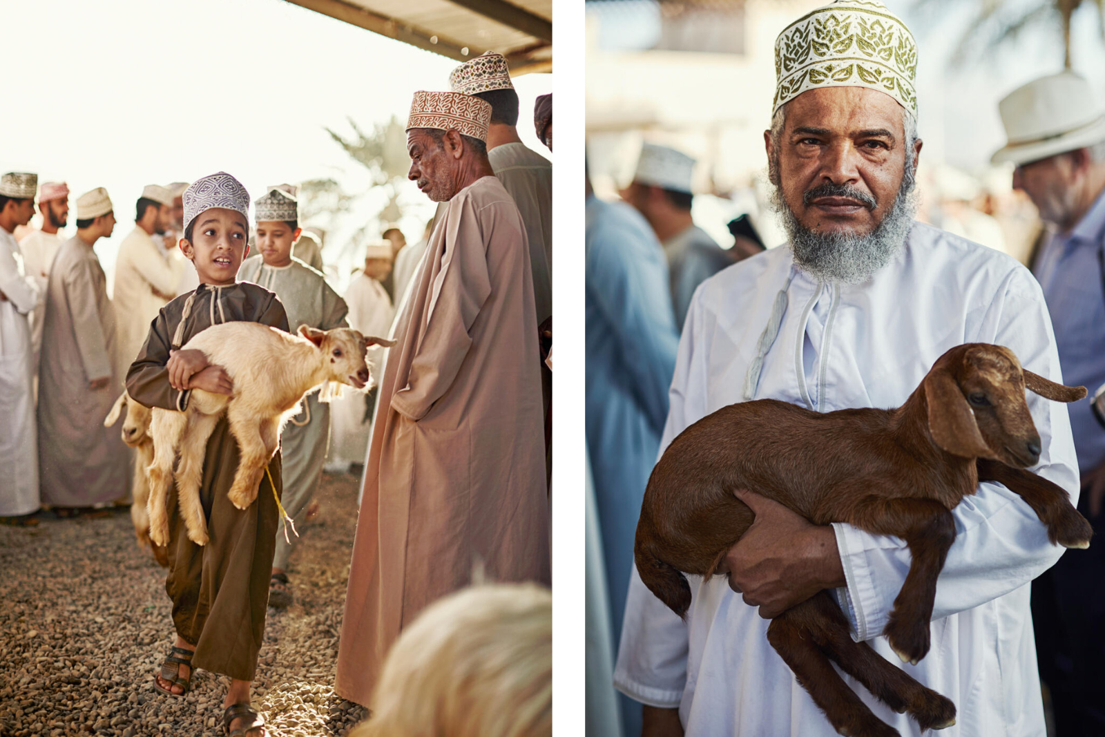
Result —
[[844, 586], [832, 527], [814, 525], [754, 492], [734, 494], [756, 519], [729, 548], [723, 566], [729, 587], [744, 594], [746, 604], [759, 607], [760, 617], [772, 619], [822, 589]]

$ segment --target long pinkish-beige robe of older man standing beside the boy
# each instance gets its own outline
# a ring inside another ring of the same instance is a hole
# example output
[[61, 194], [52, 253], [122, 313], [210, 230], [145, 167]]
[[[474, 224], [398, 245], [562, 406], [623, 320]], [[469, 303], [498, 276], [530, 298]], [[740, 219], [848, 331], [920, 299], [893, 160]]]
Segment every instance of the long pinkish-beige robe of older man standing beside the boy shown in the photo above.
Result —
[[503, 185], [430, 236], [380, 382], [335, 688], [369, 705], [391, 643], [471, 582], [549, 583], [540, 377], [525, 227]]

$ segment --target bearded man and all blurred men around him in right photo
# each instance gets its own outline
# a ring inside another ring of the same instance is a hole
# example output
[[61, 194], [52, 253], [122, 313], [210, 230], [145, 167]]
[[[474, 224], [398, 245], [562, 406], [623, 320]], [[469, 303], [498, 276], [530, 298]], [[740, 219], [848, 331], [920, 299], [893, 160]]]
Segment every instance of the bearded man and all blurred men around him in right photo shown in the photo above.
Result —
[[[856, 35], [832, 41], [833, 29]], [[642, 585], [641, 498], [684, 428], [762, 398], [822, 412], [897, 407], [937, 357], [972, 341], [1008, 346], [1091, 394], [1105, 383], [1105, 106], [1070, 71], [1000, 104], [1008, 144], [993, 161], [1015, 166], [1013, 186], [1046, 227], [1030, 271], [915, 220], [916, 63], [909, 30], [871, 0], [838, 0], [779, 34], [765, 144], [788, 242], [737, 265], [692, 224], [685, 155], [646, 144], [622, 202], [588, 186], [589, 734], [833, 734], [757, 613], [821, 589], [835, 589], [856, 640], [898, 662], [880, 636], [908, 568], [896, 538], [779, 507], [730, 550], [727, 576], [692, 577], [685, 620]], [[1105, 429], [1090, 399], [1029, 403], [1044, 448], [1033, 471], [1099, 529]], [[947, 733], [1045, 734], [1042, 681], [1056, 735], [1105, 734], [1105, 547], [1063, 554], [998, 484], [954, 515], [933, 649], [904, 665], [956, 703]], [[918, 734], [856, 689], [880, 719]]]

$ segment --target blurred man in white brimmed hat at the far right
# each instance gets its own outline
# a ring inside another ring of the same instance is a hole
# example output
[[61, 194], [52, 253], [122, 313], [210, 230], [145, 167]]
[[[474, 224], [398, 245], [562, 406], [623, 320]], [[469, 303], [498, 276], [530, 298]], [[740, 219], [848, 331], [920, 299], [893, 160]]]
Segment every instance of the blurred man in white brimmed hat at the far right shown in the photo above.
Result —
[[[1034, 272], [1051, 312], [1063, 381], [1093, 391], [1105, 383], [1105, 106], [1071, 72], [1014, 90], [999, 104], [1013, 187], [1040, 210], [1046, 232]], [[1105, 430], [1091, 400], [1067, 404], [1078, 455], [1078, 509], [1105, 528]], [[1105, 735], [1105, 545], [1069, 550], [1032, 586], [1040, 675], [1049, 686], [1057, 737]]]

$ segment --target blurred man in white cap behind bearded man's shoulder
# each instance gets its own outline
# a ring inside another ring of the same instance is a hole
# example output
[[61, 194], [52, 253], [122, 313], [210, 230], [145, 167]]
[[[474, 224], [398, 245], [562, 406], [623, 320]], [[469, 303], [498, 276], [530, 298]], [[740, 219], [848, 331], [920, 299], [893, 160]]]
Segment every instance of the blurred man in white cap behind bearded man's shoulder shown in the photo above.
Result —
[[644, 215], [664, 245], [675, 326], [683, 328], [695, 288], [733, 259], [691, 218], [691, 172], [695, 160], [666, 146], [645, 144], [636, 173], [622, 192]]

